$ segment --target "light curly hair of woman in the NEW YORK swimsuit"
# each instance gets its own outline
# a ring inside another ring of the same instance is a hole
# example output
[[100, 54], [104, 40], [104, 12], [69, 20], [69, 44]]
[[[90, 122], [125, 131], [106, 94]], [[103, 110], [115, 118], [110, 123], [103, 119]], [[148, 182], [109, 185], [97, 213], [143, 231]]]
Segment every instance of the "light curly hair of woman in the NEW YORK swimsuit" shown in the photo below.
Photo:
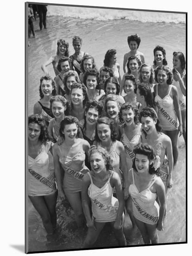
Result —
[[111, 159], [109, 153], [107, 152], [107, 150], [105, 148], [102, 148], [101, 146], [91, 146], [90, 150], [88, 152], [89, 154], [89, 162], [90, 162], [90, 156], [94, 153], [99, 153], [100, 155], [102, 155], [102, 158], [106, 161], [106, 169], [107, 171], [112, 171], [113, 167], [112, 167], [112, 162], [113, 160]]

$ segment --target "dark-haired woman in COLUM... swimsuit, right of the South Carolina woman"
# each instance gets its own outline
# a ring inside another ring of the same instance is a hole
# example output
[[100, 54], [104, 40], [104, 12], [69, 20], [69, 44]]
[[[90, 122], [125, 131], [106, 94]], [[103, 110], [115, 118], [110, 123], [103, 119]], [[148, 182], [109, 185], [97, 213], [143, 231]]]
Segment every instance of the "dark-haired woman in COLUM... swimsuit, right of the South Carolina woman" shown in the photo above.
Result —
[[[58, 195], [67, 197], [75, 213], [78, 227], [83, 225], [83, 209], [81, 204], [82, 178], [89, 171], [85, 166], [85, 154], [90, 144], [77, 137], [78, 120], [73, 116], [66, 116], [61, 121], [59, 135], [64, 139], [61, 145], [53, 146], [53, 160], [55, 176], [58, 185]], [[64, 169], [64, 179], [62, 170]]]

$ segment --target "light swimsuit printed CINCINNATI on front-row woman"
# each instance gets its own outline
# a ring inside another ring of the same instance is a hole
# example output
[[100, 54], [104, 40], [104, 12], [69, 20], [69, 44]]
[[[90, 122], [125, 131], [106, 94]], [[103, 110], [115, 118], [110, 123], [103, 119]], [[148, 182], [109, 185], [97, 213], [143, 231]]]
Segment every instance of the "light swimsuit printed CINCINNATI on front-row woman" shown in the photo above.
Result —
[[156, 179], [160, 179], [154, 175], [154, 179], [147, 189], [139, 192], [134, 183], [134, 169], [130, 169], [132, 172], [133, 183], [129, 186], [129, 194], [132, 198], [133, 215], [136, 219], [147, 224], [155, 224], [159, 219], [159, 205], [156, 202], [157, 193], [151, 192], [150, 188], [153, 186]]

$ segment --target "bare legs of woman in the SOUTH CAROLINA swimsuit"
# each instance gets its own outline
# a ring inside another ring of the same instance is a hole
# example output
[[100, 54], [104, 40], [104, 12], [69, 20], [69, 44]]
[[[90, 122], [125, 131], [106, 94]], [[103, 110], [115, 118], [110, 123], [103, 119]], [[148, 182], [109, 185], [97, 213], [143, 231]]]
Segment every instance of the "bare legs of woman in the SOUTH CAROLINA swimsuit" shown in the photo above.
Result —
[[49, 209], [45, 202], [45, 197], [29, 195], [29, 199], [31, 200], [38, 214], [41, 216], [45, 230], [47, 231], [48, 234], [52, 234], [54, 230], [53, 230], [53, 225], [51, 223], [51, 216], [49, 213]]

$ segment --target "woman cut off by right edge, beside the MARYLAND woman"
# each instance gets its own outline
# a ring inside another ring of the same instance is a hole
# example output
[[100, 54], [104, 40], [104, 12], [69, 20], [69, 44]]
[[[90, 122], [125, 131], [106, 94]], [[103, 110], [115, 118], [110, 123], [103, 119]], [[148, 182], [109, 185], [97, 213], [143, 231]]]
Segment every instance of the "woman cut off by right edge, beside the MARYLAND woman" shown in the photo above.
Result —
[[186, 142], [186, 61], [183, 53], [173, 53], [173, 85], [179, 94], [179, 106], [183, 123], [183, 138]]

